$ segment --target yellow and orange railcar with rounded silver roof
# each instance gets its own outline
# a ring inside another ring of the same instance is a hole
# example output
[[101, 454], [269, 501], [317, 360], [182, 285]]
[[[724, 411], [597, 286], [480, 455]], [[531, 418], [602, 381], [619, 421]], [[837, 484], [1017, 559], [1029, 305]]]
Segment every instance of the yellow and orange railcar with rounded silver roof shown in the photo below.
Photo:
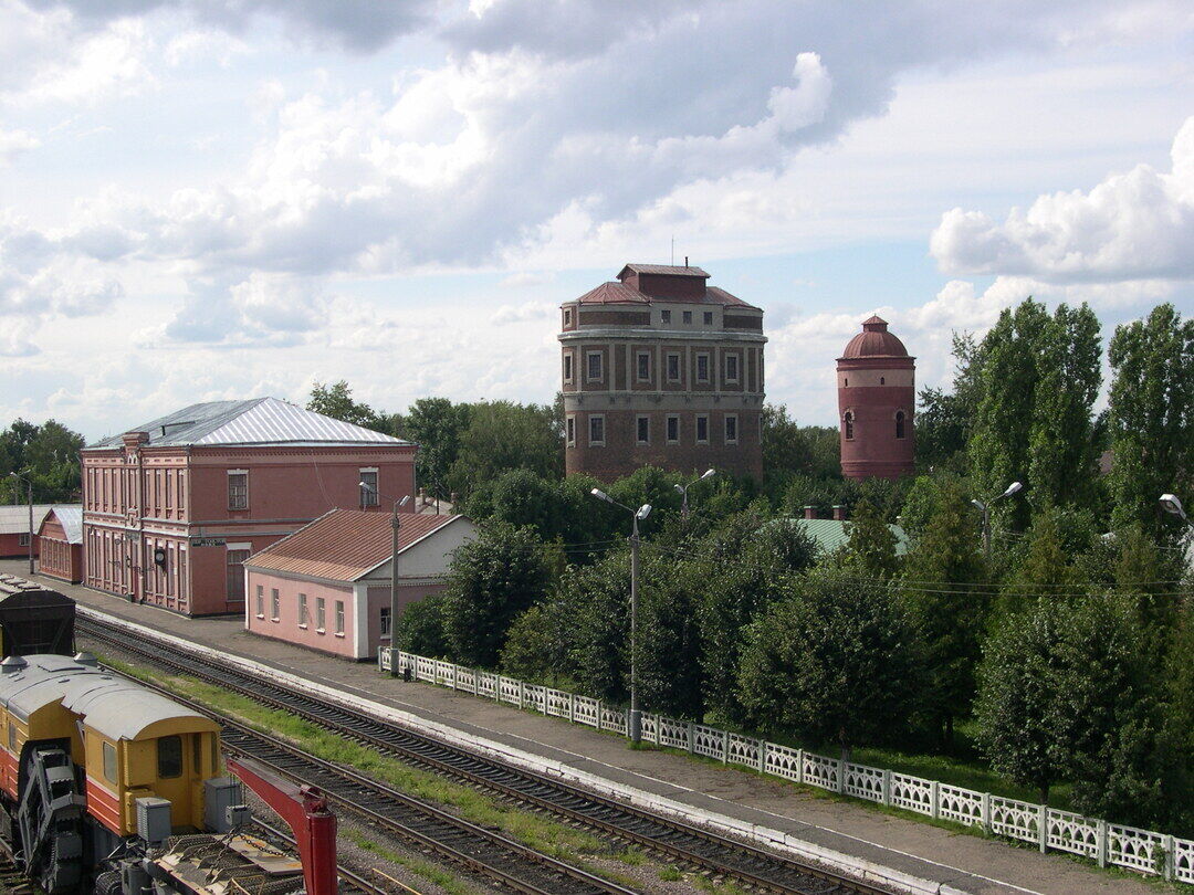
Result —
[[87, 890], [113, 856], [211, 828], [208, 795], [233, 786], [216, 722], [86, 654], [8, 656], [0, 672], [0, 803], [45, 891]]

